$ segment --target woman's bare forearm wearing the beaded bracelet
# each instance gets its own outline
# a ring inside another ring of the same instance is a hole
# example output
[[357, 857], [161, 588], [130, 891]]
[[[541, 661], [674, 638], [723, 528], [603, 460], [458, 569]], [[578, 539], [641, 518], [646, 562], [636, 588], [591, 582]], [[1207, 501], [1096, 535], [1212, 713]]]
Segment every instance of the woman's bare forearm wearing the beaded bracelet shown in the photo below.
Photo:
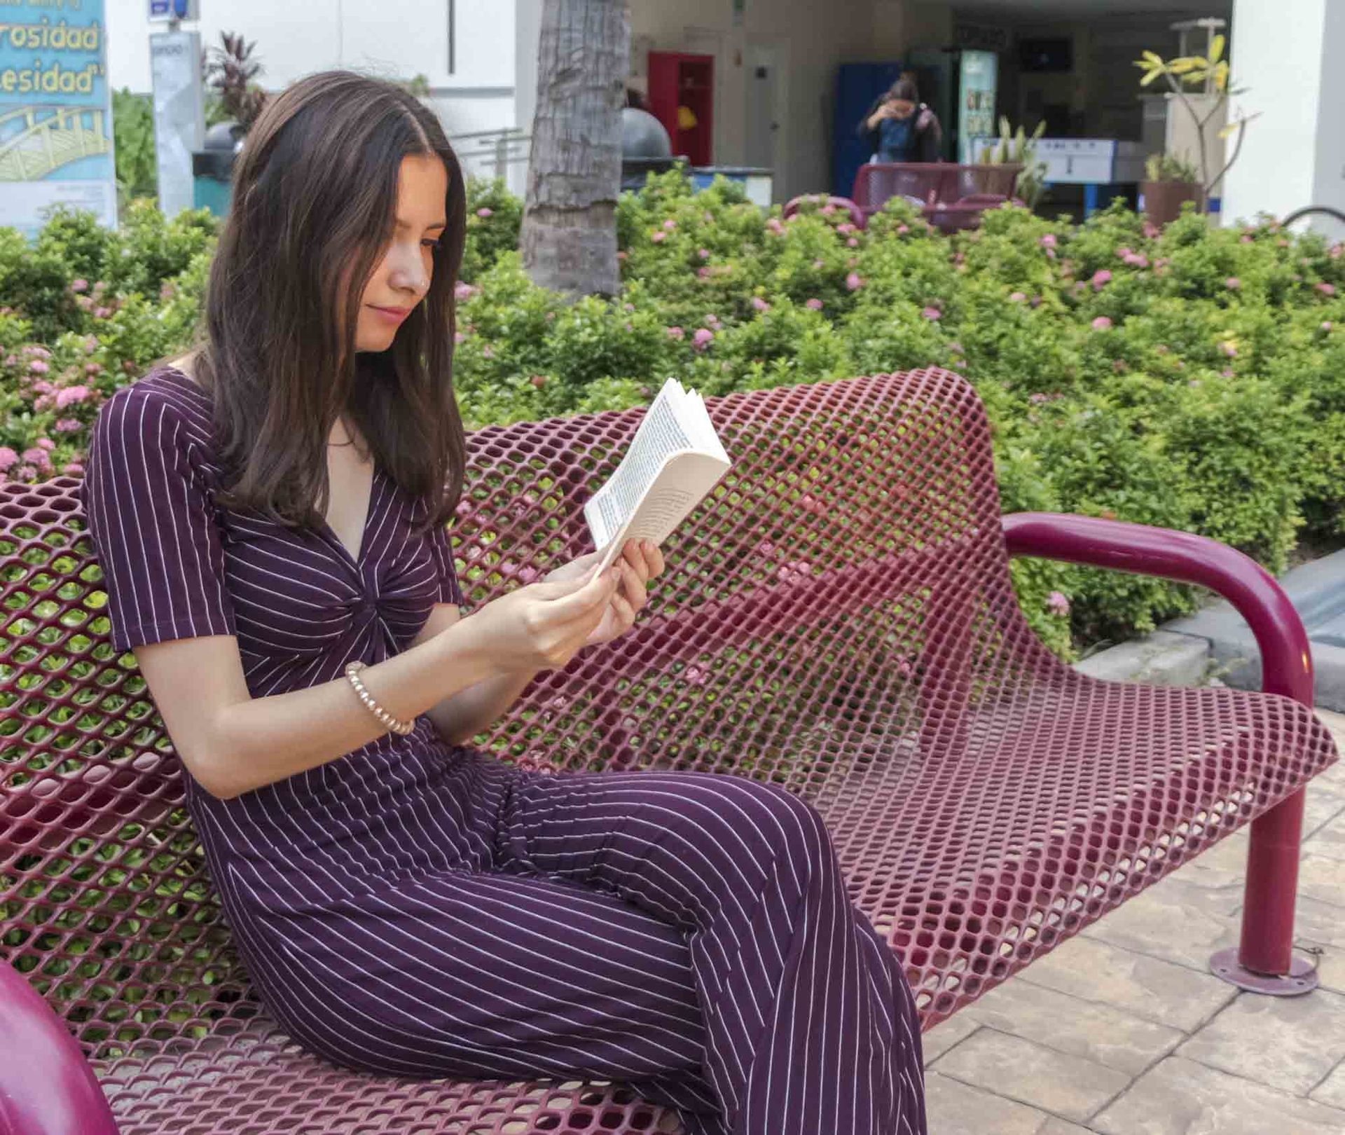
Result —
[[[402, 721], [477, 683], [502, 675], [471, 620], [360, 672], [360, 680]], [[387, 730], [342, 676], [334, 682], [253, 698], [221, 710], [211, 730], [208, 791], [230, 797], [336, 760]]]

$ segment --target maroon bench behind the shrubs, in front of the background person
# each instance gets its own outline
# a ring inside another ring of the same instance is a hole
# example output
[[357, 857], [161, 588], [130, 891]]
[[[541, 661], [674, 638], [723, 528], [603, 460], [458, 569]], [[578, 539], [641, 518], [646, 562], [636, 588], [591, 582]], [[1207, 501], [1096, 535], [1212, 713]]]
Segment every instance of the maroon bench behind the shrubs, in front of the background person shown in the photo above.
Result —
[[944, 161], [873, 161], [854, 175], [851, 196], [868, 223], [894, 196], [921, 202], [925, 219], [944, 231], [974, 229], [981, 214], [1013, 199], [1022, 165], [954, 165]]

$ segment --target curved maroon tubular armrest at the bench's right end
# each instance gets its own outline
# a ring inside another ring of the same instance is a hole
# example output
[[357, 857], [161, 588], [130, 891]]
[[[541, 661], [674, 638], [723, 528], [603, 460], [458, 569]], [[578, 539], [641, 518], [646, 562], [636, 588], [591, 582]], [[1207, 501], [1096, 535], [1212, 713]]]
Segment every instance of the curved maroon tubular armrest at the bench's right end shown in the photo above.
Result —
[[1208, 537], [1056, 512], [1002, 518], [1010, 555], [1036, 555], [1198, 584], [1227, 598], [1251, 627], [1262, 687], [1313, 705], [1313, 655], [1303, 621], [1275, 578], [1250, 555]]

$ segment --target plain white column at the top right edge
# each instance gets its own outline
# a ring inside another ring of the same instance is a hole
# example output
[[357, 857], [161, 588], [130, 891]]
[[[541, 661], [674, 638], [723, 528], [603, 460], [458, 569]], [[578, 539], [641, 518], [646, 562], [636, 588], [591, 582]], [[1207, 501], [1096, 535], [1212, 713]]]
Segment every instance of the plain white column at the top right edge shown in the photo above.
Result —
[[1225, 223], [1307, 204], [1345, 211], [1345, 4], [1233, 0], [1232, 43], [1233, 83], [1245, 89], [1233, 106], [1260, 117], [1224, 184]]

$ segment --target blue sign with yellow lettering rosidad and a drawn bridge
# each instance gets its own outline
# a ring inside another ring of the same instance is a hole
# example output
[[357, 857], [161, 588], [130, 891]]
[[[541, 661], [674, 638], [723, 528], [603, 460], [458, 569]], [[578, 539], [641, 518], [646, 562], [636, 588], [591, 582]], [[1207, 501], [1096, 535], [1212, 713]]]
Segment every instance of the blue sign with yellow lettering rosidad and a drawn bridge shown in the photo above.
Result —
[[30, 238], [55, 204], [117, 223], [104, 0], [0, 5], [0, 225]]

